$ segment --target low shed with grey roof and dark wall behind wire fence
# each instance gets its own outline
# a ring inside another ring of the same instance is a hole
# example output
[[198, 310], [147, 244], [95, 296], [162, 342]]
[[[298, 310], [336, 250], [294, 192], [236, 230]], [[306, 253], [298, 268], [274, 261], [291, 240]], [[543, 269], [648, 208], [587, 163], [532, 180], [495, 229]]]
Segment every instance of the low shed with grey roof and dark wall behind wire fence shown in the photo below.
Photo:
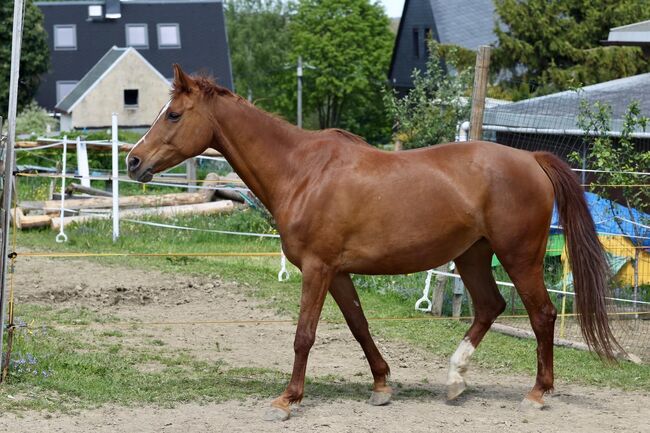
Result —
[[[547, 150], [563, 157], [572, 151], [586, 151], [579, 125], [583, 101], [592, 107], [596, 102], [609, 105], [610, 131], [620, 135], [632, 101], [639, 103], [641, 114], [650, 115], [650, 73], [486, 108], [484, 135], [501, 144]], [[638, 129], [634, 137], [639, 150], [650, 149], [650, 133]]]

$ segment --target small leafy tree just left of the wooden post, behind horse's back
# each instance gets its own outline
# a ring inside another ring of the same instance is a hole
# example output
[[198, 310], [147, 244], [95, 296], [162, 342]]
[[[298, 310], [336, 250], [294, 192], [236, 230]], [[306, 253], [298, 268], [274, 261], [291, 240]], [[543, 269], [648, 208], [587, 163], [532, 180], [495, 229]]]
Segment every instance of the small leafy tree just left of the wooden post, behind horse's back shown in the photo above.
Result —
[[413, 89], [402, 98], [394, 91], [385, 93], [386, 107], [395, 119], [396, 138], [405, 149], [454, 141], [459, 123], [469, 119], [466, 96], [473, 68], [466, 66], [463, 54], [431, 41], [426, 70], [413, 71]]

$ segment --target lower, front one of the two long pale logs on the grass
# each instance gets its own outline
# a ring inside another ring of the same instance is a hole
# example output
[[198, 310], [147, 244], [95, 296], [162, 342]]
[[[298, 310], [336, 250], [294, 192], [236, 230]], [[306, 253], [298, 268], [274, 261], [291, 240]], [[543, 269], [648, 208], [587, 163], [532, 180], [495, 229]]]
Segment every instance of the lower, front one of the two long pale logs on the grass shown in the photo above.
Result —
[[[214, 214], [231, 212], [235, 208], [230, 200], [221, 200], [209, 203], [188, 204], [181, 206], [163, 206], [146, 209], [128, 209], [120, 212], [120, 218], [134, 218], [140, 216], [157, 215], [162, 217], [172, 217], [177, 215], [189, 214]], [[71, 223], [85, 223], [88, 221], [99, 219], [110, 219], [110, 215], [81, 215], [63, 218], [63, 226]], [[59, 230], [61, 228], [61, 219], [52, 218], [50, 225], [52, 230]]]

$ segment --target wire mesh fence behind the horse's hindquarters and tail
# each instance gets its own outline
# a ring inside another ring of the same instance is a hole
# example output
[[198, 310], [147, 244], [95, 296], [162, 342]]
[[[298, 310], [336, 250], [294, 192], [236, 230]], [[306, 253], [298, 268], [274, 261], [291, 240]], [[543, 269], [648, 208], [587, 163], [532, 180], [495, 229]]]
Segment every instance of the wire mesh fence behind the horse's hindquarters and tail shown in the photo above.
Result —
[[[578, 173], [587, 192], [588, 202], [607, 252], [613, 278], [610, 286], [609, 312], [614, 335], [627, 351], [650, 360], [650, 203], [636, 201], [633, 209], [626, 194], [647, 197], [650, 191], [650, 166], [622, 166], [629, 176], [623, 183], [613, 183], [595, 163], [595, 136], [607, 135], [614, 148], [620, 147], [625, 134], [629, 107], [636, 104], [641, 114], [650, 114], [650, 100], [639, 98], [638, 86], [650, 83], [650, 74], [614, 80], [582, 89], [569, 90], [519, 102], [493, 104], [486, 108], [483, 137], [507, 146], [528, 151], [548, 151], [567, 161]], [[605, 130], [585, 128], [586, 110], [605, 107], [609, 118]], [[629, 125], [628, 125], [629, 126]], [[650, 133], [644, 125], [628, 130], [634, 152], [650, 152]], [[642, 161], [641, 158], [638, 160]], [[646, 159], [647, 161], [647, 159]], [[621, 161], [622, 165], [625, 165]], [[620, 176], [619, 176], [620, 178]], [[603, 179], [607, 179], [603, 181]], [[632, 192], [630, 192], [632, 191]], [[593, 197], [593, 200], [589, 200]], [[599, 214], [599, 204], [602, 214]], [[559, 236], [561, 231], [556, 230]], [[551, 236], [553, 237], [553, 236]], [[548, 254], [545, 279], [549, 289], [562, 291], [562, 254]], [[502, 268], [496, 267], [497, 279], [509, 281]], [[565, 276], [566, 277], [566, 276]], [[572, 289], [569, 284], [568, 291]], [[510, 315], [525, 314], [525, 308], [513, 287], [501, 287]], [[556, 337], [582, 342], [580, 327], [574, 315], [573, 294], [550, 293], [558, 312]], [[530, 330], [525, 318], [499, 319], [499, 323]]]

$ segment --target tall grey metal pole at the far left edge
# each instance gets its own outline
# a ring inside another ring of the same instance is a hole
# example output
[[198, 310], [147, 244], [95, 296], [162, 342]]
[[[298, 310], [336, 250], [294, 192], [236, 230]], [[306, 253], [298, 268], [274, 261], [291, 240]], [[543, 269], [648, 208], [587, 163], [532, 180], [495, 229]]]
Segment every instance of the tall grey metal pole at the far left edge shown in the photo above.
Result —
[[[9, 260], [7, 257], [7, 248], [9, 246], [9, 208], [11, 208], [11, 194], [13, 192], [13, 175], [14, 175], [14, 145], [16, 142], [16, 110], [18, 106], [18, 79], [20, 75], [20, 45], [23, 38], [23, 0], [14, 1], [14, 25], [11, 38], [11, 78], [9, 80], [9, 106], [7, 115], [9, 125], [7, 128], [7, 148], [5, 149], [4, 164], [4, 194], [2, 200], [2, 246], [0, 247], [0, 260], [2, 266], [2, 287], [0, 287], [0, 354], [2, 353], [2, 343], [4, 338], [5, 323], [5, 297], [7, 292], [7, 270]], [[0, 381], [2, 379], [0, 378]]]

